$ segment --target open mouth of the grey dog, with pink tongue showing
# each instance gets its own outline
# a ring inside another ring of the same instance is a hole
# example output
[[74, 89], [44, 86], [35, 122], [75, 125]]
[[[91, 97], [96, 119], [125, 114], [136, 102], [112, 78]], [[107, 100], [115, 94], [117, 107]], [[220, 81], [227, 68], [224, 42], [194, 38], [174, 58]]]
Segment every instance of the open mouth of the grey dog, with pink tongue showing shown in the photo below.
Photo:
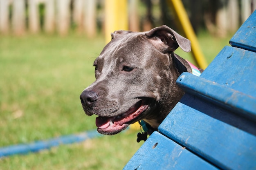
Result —
[[130, 124], [135, 123], [135, 119], [141, 115], [147, 108], [144, 100], [140, 100], [125, 113], [115, 117], [97, 117], [97, 131], [104, 135], [115, 135], [126, 129]]

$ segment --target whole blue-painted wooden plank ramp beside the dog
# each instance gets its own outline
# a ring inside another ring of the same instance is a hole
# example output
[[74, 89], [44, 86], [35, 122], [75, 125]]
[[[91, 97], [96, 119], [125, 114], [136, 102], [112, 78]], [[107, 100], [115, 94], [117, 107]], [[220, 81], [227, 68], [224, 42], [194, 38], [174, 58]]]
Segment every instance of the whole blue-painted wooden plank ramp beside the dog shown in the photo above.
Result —
[[124, 170], [256, 170], [256, 11]]

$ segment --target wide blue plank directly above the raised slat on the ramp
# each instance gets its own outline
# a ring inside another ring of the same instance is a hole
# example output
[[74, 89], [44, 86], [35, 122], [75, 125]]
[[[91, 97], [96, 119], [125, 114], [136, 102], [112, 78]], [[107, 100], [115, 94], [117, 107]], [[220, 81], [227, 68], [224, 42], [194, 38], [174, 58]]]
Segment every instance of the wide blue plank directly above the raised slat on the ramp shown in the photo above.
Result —
[[200, 77], [256, 97], [256, 53], [225, 46]]

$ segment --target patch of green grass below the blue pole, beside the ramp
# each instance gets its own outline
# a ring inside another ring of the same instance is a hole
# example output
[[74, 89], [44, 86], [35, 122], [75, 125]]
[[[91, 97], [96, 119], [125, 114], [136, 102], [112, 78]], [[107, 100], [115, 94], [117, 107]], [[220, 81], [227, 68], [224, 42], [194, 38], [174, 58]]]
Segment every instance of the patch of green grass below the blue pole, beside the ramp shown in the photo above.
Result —
[[120, 170], [139, 149], [135, 132], [0, 159], [1, 170]]

